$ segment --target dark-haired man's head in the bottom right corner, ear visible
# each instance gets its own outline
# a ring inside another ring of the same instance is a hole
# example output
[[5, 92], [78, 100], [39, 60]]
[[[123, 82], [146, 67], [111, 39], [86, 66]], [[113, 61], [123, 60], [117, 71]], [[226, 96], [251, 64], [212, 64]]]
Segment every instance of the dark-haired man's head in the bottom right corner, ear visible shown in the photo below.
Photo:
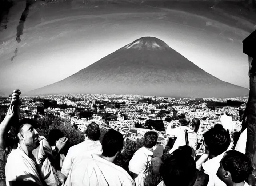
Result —
[[217, 176], [227, 186], [249, 186], [244, 182], [252, 173], [250, 159], [243, 153], [236, 150], [227, 151], [220, 161]]

